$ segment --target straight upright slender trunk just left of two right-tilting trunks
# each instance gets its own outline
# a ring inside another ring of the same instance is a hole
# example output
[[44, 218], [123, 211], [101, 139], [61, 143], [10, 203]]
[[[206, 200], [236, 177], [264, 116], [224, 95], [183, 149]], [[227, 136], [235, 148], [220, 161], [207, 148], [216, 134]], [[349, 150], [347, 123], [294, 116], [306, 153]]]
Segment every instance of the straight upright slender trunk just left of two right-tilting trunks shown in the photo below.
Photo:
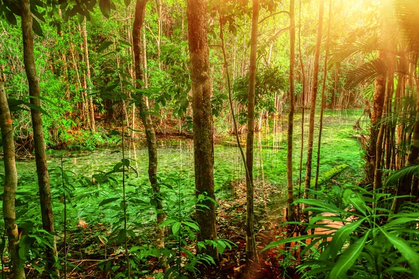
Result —
[[293, 194], [293, 132], [294, 132], [294, 65], [295, 65], [295, 14], [294, 14], [294, 0], [290, 1], [290, 92], [289, 103], [290, 112], [288, 112], [288, 149], [286, 155], [287, 165], [287, 220], [295, 220], [295, 213], [293, 209], [294, 194]]

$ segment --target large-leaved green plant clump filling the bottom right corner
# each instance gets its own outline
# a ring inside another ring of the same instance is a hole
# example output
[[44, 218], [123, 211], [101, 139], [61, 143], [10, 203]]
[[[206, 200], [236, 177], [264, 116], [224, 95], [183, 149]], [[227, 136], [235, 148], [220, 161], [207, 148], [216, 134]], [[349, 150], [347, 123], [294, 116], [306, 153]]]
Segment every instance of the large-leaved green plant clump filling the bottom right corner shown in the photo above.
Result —
[[304, 211], [311, 212], [307, 230], [326, 234], [281, 239], [265, 250], [311, 239], [310, 244], [300, 242], [302, 263], [298, 269], [304, 278], [418, 278], [418, 206], [411, 204], [395, 214], [389, 210], [395, 198], [390, 194], [355, 186], [332, 191], [315, 193], [320, 199], [295, 201], [306, 204]]

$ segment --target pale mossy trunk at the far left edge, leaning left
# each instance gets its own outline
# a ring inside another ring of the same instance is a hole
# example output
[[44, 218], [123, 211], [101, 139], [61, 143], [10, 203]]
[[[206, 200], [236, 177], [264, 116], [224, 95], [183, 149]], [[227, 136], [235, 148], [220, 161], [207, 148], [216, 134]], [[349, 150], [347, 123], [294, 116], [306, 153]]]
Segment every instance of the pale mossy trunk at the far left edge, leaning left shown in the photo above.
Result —
[[4, 192], [3, 192], [3, 218], [8, 238], [10, 263], [12, 264], [13, 278], [22, 279], [24, 275], [24, 259], [19, 256], [19, 232], [16, 225], [15, 197], [17, 189], [17, 172], [15, 163], [15, 140], [13, 140], [12, 117], [4, 91], [3, 80], [0, 76], [0, 128], [3, 140], [4, 162]]

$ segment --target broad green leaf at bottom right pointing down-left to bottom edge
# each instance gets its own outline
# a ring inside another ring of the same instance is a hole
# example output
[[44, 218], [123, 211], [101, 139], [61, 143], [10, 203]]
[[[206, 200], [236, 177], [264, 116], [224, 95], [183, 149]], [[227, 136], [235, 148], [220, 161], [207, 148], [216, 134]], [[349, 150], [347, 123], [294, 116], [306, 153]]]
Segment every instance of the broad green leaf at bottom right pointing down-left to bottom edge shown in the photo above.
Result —
[[362, 250], [364, 249], [365, 242], [367, 241], [369, 231], [365, 234], [362, 239], [358, 239], [355, 243], [351, 244], [346, 251], [340, 255], [335, 267], [330, 271], [329, 278], [339, 279], [346, 278], [346, 273], [349, 269], [355, 264], [356, 259], [361, 255]]

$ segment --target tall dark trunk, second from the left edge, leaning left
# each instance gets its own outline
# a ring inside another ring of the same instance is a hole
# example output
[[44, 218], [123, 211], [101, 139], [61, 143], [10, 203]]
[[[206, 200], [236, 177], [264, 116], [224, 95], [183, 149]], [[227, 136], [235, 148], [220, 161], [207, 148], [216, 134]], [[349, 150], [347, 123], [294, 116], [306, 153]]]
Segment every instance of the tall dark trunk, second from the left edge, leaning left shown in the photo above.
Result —
[[[34, 38], [32, 34], [32, 14], [29, 0], [22, 0], [22, 37], [24, 69], [29, 83], [29, 95], [32, 105], [41, 107], [38, 74], [36, 73], [34, 59]], [[50, 176], [48, 174], [47, 156], [45, 155], [45, 142], [42, 129], [42, 117], [39, 110], [31, 109], [32, 128], [34, 129], [34, 146], [36, 172], [38, 173], [39, 198], [41, 200], [41, 216], [43, 229], [54, 233], [54, 216], [52, 213]], [[47, 248], [47, 267], [52, 271], [57, 257], [57, 247], [54, 240], [52, 248]], [[57, 271], [58, 272], [58, 271]]]

